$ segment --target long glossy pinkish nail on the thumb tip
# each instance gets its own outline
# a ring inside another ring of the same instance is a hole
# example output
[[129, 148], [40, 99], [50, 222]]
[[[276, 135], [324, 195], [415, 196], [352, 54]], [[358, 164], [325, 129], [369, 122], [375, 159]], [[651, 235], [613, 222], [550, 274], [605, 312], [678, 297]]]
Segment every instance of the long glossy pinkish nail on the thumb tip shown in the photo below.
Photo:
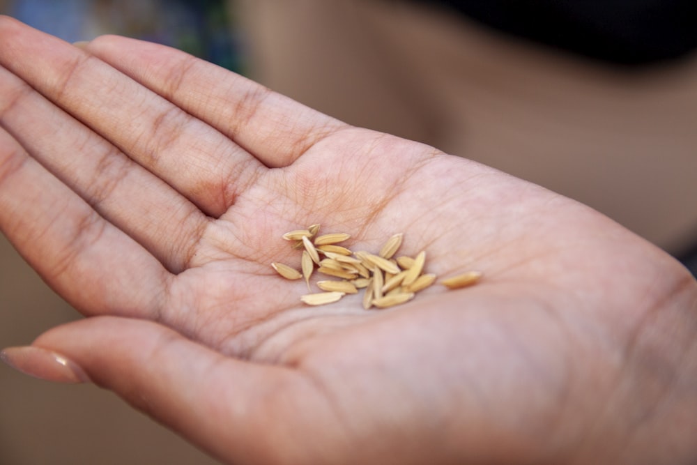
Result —
[[35, 378], [56, 383], [88, 383], [89, 376], [77, 363], [59, 353], [34, 346], [8, 347], [0, 360]]

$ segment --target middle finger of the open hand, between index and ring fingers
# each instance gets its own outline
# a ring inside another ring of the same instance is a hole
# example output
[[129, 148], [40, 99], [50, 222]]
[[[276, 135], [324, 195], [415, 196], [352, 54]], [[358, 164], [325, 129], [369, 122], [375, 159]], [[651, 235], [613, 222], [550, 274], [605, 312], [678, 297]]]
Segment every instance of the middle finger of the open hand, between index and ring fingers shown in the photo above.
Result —
[[0, 124], [33, 158], [174, 273], [206, 215], [79, 121], [0, 67]]

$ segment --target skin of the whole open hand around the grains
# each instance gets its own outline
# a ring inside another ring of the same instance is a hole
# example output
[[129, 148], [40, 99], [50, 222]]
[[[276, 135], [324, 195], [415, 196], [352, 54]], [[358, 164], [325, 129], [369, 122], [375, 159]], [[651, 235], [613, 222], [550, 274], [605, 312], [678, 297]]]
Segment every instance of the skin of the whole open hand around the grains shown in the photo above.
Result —
[[[88, 317], [30, 359], [235, 464], [697, 461], [697, 282], [657, 247], [174, 49], [0, 43], [0, 229]], [[484, 278], [307, 307], [270, 262], [315, 222]]]

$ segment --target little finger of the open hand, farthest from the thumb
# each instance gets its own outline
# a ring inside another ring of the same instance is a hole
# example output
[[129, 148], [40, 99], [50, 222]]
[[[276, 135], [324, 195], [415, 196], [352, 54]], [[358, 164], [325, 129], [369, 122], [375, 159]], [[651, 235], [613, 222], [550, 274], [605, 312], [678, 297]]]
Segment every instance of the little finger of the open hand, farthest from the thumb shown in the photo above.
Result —
[[290, 165], [347, 125], [176, 49], [104, 36], [87, 51], [206, 121], [268, 167]]

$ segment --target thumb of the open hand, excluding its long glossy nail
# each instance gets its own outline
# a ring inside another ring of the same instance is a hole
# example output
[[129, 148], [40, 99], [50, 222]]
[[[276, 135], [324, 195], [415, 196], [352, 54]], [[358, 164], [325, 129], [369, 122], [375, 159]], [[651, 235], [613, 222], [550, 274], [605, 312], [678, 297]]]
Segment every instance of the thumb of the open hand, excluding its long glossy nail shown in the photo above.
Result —
[[302, 416], [288, 411], [302, 383], [291, 369], [227, 358], [156, 323], [114, 317], [54, 328], [33, 346], [77, 363], [89, 379], [217, 457], [286, 463], [273, 457], [288, 450], [279, 429], [298, 427]]

